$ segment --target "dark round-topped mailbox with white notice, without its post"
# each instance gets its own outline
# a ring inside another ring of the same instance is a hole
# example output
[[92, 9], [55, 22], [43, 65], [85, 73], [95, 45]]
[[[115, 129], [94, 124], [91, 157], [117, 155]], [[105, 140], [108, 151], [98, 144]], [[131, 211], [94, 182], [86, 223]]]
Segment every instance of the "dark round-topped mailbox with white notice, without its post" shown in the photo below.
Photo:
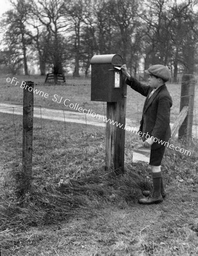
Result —
[[95, 55], [91, 58], [91, 101], [116, 102], [121, 99], [119, 54]]

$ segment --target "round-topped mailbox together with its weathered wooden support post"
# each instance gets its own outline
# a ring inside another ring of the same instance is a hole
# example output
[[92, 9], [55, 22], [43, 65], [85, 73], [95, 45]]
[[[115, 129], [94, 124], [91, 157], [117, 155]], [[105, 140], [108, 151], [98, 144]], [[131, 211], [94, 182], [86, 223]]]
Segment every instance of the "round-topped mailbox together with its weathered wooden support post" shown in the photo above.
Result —
[[127, 85], [118, 54], [95, 55], [91, 59], [91, 100], [107, 102], [106, 168], [124, 172], [125, 113]]

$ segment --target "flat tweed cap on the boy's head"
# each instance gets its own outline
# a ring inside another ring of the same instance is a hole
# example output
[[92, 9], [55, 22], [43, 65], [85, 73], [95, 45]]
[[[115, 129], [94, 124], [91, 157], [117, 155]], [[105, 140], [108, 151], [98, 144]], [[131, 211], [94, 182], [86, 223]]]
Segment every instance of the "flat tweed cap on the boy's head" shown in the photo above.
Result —
[[161, 79], [168, 81], [170, 79], [170, 71], [164, 65], [152, 65], [150, 68], [145, 70], [149, 75], [160, 77]]

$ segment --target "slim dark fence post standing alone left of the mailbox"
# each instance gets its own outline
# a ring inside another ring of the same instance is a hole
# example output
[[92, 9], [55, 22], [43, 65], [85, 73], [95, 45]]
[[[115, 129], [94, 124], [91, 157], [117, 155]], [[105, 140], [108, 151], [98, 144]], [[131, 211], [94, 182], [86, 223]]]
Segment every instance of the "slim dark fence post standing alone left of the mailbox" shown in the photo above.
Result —
[[18, 176], [19, 196], [30, 191], [32, 181], [32, 136], [33, 136], [33, 82], [26, 81], [23, 89], [23, 149], [22, 172]]

